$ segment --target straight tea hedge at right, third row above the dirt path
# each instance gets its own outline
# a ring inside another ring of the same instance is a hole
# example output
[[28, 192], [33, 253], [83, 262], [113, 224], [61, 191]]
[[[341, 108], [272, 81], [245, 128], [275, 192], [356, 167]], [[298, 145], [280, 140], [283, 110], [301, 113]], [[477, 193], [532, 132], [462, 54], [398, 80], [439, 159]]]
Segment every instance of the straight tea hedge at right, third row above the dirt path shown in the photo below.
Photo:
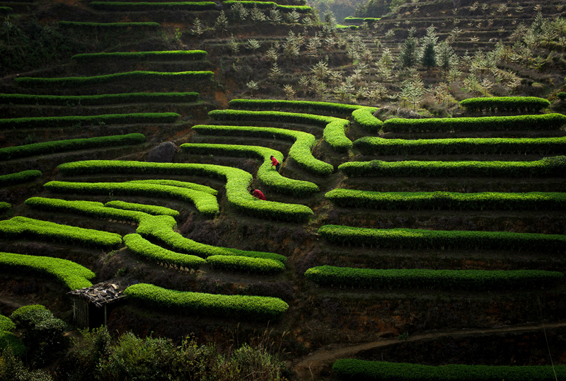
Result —
[[564, 210], [566, 193], [371, 192], [333, 189], [325, 198], [341, 207], [370, 209]]

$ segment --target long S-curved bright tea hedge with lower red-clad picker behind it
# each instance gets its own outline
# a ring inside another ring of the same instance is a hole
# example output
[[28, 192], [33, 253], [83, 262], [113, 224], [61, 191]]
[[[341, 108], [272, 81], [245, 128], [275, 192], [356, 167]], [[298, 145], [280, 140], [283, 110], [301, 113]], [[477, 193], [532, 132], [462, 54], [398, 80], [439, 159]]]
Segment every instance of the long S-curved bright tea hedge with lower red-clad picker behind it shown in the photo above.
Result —
[[299, 204], [275, 203], [254, 198], [248, 191], [253, 178], [241, 169], [210, 164], [145, 163], [141, 161], [91, 160], [65, 163], [57, 167], [66, 176], [79, 174], [178, 174], [185, 176], [209, 176], [226, 180], [226, 198], [229, 203], [255, 217], [303, 221], [313, 215], [310, 207]]

